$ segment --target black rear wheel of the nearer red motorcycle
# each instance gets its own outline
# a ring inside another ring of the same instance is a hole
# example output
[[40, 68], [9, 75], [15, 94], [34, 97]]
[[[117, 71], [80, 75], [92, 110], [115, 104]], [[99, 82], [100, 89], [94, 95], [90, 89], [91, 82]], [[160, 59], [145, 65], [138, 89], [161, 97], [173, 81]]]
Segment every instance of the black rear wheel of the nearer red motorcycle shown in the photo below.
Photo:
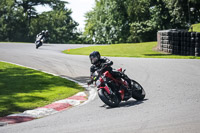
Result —
[[143, 100], [146, 93], [143, 89], [143, 87], [136, 81], [131, 80], [132, 82], [132, 97], [136, 100]]

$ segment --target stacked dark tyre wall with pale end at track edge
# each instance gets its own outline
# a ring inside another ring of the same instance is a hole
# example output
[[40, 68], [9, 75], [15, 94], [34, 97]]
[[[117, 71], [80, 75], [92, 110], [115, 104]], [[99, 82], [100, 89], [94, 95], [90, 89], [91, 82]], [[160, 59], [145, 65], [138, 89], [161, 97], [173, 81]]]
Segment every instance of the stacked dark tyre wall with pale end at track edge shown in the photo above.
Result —
[[175, 55], [200, 56], [200, 32], [163, 30], [157, 33], [158, 49]]

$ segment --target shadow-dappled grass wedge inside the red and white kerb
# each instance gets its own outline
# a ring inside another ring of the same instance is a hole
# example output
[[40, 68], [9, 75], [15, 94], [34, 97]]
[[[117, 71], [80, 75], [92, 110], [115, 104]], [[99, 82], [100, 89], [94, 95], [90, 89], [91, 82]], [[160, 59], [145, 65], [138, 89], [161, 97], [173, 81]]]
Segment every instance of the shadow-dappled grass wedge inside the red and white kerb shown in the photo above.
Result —
[[61, 77], [0, 62], [0, 116], [41, 107], [83, 90]]

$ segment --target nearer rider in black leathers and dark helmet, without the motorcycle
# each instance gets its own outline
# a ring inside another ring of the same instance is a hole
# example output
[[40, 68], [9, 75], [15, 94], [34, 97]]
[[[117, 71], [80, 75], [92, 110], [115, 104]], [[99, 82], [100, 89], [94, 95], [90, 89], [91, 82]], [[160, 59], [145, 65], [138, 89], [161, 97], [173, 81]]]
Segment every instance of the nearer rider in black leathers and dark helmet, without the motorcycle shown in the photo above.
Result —
[[131, 80], [128, 78], [128, 76], [122, 72], [116, 71], [114, 70], [111, 66], [113, 65], [113, 62], [111, 60], [109, 60], [108, 58], [104, 57], [101, 58], [101, 55], [98, 51], [93, 51], [90, 55], [89, 55], [90, 61], [92, 66], [90, 67], [90, 77], [91, 80], [88, 82], [89, 84], [93, 83], [93, 76], [95, 71], [100, 70], [102, 68], [103, 72], [105, 71], [109, 71], [113, 77], [115, 78], [122, 78], [124, 80], [126, 80], [129, 84], [129, 88], [128, 91], [131, 91]]

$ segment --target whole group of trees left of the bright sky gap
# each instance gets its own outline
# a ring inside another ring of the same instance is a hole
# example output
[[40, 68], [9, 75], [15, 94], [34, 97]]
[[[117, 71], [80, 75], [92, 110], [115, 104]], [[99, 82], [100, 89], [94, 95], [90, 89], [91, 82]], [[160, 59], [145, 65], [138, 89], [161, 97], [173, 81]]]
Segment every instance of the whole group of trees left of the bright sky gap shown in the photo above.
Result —
[[[77, 43], [78, 23], [65, 4], [61, 0], [1, 0], [0, 41], [34, 42], [39, 32], [49, 30], [49, 42]], [[48, 5], [52, 10], [38, 14], [37, 5]]]

